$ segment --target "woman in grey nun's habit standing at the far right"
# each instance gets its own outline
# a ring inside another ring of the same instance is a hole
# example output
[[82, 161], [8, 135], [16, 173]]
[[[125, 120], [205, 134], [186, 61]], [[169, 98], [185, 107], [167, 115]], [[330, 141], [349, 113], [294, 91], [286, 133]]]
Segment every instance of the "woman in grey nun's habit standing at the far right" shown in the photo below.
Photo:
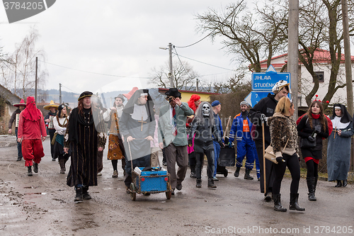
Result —
[[337, 181], [336, 187], [345, 187], [350, 166], [350, 137], [354, 134], [353, 119], [346, 106], [335, 104], [331, 121], [333, 130], [327, 145], [327, 173], [329, 181]]

